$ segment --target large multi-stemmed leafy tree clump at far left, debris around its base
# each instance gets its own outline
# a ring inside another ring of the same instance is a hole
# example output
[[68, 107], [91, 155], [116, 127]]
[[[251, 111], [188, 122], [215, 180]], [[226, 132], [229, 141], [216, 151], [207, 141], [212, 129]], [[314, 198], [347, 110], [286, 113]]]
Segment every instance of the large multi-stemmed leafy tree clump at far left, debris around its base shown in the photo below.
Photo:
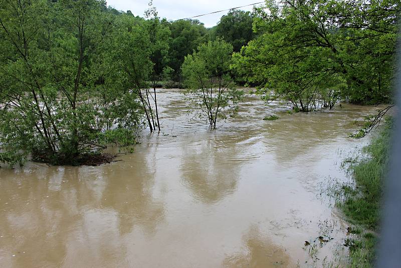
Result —
[[31, 153], [54, 164], [80, 164], [114, 138], [133, 138], [139, 110], [120, 109], [128, 99], [99, 68], [113, 29], [102, 4], [1, 1], [0, 145], [7, 159], [0, 161], [22, 164]]

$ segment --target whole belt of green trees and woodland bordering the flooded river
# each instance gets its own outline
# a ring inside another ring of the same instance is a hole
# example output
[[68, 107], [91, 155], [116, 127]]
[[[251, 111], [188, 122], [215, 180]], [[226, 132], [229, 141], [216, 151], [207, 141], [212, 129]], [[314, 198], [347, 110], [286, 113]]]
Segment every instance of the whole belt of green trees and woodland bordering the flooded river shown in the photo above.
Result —
[[235, 85], [296, 111], [392, 102], [396, 0], [267, 1], [211, 29], [97, 0], [0, 0], [0, 162], [82, 164], [159, 131], [157, 91], [188, 88], [212, 126]]

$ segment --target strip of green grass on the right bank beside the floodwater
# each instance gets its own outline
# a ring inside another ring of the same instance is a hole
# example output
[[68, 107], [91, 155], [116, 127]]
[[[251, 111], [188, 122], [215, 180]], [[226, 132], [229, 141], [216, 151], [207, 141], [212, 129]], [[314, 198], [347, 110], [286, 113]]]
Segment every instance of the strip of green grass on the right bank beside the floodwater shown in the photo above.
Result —
[[339, 206], [350, 223], [362, 231], [347, 239], [350, 267], [373, 267], [376, 235], [379, 229], [383, 181], [388, 167], [391, 119], [386, 121], [378, 136], [364, 148], [368, 157], [351, 165], [356, 187], [348, 189]]

